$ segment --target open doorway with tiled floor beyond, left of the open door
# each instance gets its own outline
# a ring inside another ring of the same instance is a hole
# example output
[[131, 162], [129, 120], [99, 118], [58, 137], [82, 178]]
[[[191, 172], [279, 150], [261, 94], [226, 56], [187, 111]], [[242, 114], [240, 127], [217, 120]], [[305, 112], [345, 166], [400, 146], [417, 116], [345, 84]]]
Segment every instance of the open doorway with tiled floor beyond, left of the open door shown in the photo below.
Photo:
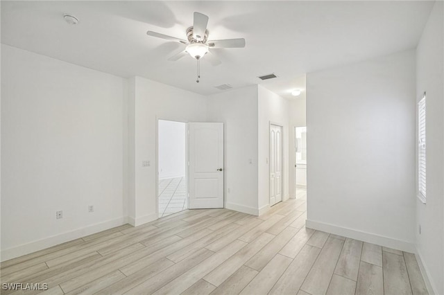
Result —
[[159, 120], [157, 124], [159, 217], [188, 208], [187, 123]]

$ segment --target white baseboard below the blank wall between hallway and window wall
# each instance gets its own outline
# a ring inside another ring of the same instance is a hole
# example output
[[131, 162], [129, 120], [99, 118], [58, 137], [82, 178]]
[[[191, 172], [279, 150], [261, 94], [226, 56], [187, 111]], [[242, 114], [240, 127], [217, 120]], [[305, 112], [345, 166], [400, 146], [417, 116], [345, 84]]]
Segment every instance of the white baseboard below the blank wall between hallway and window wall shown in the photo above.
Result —
[[342, 235], [346, 238], [361, 240], [364, 242], [378, 244], [384, 247], [393, 248], [409, 253], [415, 253], [415, 244], [402, 240], [384, 237], [383, 235], [376, 235], [374, 233], [366, 233], [364, 231], [357, 231], [355, 229], [348, 229], [334, 224], [326, 224], [323, 222], [316, 222], [314, 220], [306, 220], [305, 226], [309, 229], [317, 229], [318, 231], [325, 231], [327, 233], [334, 233], [335, 235]]

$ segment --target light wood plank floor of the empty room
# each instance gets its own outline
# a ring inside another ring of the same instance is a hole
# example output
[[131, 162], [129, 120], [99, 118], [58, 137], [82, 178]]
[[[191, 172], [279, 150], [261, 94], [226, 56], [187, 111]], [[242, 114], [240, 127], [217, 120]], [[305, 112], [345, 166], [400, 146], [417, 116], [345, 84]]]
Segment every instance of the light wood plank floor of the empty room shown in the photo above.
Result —
[[[260, 217], [191, 210], [119, 226], [3, 262], [1, 283], [47, 283], [46, 294], [427, 294], [413, 254], [306, 229], [299, 197]], [[12, 293], [22, 292], [1, 292]]]

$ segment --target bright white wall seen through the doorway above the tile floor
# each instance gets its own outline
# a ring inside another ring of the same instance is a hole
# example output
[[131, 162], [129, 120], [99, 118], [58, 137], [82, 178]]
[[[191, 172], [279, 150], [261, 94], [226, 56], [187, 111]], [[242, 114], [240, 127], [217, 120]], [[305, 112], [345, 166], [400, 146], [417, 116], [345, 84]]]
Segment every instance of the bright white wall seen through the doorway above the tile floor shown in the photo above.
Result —
[[159, 179], [185, 177], [185, 127], [182, 122], [158, 122]]

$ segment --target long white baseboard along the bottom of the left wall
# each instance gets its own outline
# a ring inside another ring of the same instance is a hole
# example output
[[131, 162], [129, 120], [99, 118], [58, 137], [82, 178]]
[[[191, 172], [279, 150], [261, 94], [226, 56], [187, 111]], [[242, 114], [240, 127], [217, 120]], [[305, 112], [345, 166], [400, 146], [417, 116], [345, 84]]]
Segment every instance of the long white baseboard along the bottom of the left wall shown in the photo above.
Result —
[[62, 244], [64, 242], [69, 242], [71, 240], [76, 240], [78, 238], [85, 237], [86, 235], [99, 233], [99, 231], [112, 229], [113, 227], [120, 226], [126, 223], [128, 223], [127, 217], [119, 217], [114, 220], [108, 220], [105, 222], [92, 224], [90, 226], [85, 226], [81, 229], [75, 229], [74, 231], [67, 231], [65, 233], [52, 235], [51, 237], [43, 238], [41, 240], [37, 240], [34, 242], [21, 244], [17, 247], [2, 249], [0, 255], [1, 261], [6, 261], [19, 256], [24, 256], [26, 254], [33, 253], [35, 251], [39, 251], [42, 249], [56, 246], [58, 244]]

